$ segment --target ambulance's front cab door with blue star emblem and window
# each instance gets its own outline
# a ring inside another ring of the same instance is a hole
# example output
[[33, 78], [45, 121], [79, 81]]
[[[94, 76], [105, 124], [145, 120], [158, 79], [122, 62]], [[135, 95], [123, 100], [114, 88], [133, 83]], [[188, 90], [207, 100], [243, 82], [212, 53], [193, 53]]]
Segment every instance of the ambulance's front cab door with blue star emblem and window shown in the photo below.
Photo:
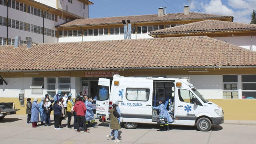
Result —
[[196, 96], [188, 89], [179, 88], [178, 98], [175, 100], [176, 118], [178, 124], [194, 125], [196, 114], [198, 114], [198, 105], [194, 104]]

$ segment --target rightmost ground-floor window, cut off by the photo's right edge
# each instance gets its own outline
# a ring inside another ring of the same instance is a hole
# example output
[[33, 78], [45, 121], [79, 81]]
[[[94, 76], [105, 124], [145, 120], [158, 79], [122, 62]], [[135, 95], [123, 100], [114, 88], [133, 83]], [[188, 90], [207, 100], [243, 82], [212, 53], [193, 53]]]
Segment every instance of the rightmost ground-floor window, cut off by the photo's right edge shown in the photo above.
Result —
[[256, 99], [256, 74], [242, 75], [242, 98]]

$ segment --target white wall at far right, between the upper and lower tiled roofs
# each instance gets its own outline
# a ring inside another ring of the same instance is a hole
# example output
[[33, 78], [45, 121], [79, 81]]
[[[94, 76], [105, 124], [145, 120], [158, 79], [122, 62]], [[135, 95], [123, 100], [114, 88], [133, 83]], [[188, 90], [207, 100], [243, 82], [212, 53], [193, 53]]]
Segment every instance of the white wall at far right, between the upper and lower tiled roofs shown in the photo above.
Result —
[[256, 51], [256, 36], [229, 36], [229, 37], [214, 37], [217, 40], [228, 42], [237, 46], [250, 50], [250, 45], [252, 45], [252, 50]]

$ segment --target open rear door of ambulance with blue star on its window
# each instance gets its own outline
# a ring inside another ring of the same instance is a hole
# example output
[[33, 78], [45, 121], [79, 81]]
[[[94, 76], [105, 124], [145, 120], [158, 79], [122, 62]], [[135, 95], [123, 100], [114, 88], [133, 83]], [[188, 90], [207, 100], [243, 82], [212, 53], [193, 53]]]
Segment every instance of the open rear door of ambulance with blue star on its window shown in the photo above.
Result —
[[97, 96], [96, 114], [100, 116], [108, 116], [110, 79], [99, 78]]

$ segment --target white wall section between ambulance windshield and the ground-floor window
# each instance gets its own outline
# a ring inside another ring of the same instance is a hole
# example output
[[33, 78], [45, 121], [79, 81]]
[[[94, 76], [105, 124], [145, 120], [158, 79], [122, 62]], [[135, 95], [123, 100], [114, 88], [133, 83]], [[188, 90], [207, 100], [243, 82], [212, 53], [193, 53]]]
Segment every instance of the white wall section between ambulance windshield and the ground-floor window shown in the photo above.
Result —
[[189, 75], [189, 76], [166, 76], [167, 78], [188, 77], [198, 92], [206, 99], [223, 98], [222, 75]]

